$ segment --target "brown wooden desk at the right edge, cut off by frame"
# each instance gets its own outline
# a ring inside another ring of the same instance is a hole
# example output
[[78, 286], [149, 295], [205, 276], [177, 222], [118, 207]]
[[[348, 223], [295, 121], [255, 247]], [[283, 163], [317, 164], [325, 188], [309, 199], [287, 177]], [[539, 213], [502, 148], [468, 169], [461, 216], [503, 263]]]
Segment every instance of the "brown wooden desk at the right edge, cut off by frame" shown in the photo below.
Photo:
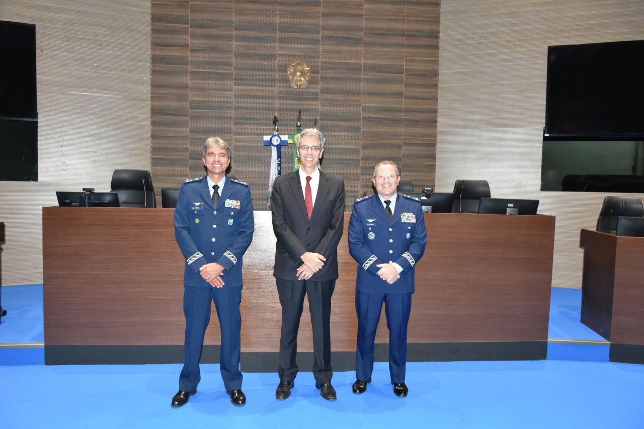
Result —
[[611, 341], [609, 359], [644, 363], [644, 238], [582, 229], [582, 323]]

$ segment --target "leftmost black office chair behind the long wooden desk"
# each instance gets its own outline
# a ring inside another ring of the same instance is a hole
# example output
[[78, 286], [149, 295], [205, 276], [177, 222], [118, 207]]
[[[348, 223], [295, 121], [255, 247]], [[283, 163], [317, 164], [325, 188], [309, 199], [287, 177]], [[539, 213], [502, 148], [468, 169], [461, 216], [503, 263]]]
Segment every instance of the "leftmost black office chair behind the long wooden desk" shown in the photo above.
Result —
[[155, 188], [147, 170], [114, 170], [111, 187], [121, 207], [156, 207]]

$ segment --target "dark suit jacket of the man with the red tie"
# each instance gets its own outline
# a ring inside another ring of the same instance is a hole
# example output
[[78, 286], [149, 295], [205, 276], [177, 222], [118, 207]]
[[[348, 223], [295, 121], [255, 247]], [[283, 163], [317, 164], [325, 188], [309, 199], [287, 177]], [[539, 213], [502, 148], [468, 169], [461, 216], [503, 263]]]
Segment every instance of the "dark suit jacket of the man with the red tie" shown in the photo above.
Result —
[[303, 263], [299, 257], [305, 252], [313, 252], [323, 255], [327, 261], [311, 280], [337, 279], [337, 243], [345, 218], [345, 182], [342, 178], [320, 171], [310, 221], [299, 171], [275, 179], [270, 204], [277, 238], [273, 275], [283, 280], [298, 280], [296, 271]]

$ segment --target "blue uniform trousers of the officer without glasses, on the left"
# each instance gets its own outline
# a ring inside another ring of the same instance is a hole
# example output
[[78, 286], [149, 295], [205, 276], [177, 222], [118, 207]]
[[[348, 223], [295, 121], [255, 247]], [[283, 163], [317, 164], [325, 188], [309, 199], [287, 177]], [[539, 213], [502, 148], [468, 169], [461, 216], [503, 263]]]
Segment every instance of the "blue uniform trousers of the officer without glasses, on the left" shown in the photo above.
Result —
[[210, 321], [210, 303], [214, 300], [222, 332], [219, 367], [226, 390], [242, 388], [240, 351], [242, 287], [184, 287], [185, 343], [184, 368], [179, 388], [192, 392], [201, 379], [199, 361], [204, 349], [205, 329]]

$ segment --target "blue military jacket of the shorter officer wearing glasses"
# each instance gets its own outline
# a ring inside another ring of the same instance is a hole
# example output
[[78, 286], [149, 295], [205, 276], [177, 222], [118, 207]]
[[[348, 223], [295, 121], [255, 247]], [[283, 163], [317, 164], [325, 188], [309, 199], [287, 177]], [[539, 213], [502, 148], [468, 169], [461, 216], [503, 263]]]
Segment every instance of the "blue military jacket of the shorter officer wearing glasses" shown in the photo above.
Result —
[[[427, 230], [421, 203], [398, 194], [390, 221], [380, 198], [366, 196], [354, 202], [348, 228], [349, 252], [358, 262], [355, 287], [361, 292], [410, 293], [414, 266], [425, 251]], [[380, 263], [395, 262], [403, 271], [392, 285], [376, 273]]]

